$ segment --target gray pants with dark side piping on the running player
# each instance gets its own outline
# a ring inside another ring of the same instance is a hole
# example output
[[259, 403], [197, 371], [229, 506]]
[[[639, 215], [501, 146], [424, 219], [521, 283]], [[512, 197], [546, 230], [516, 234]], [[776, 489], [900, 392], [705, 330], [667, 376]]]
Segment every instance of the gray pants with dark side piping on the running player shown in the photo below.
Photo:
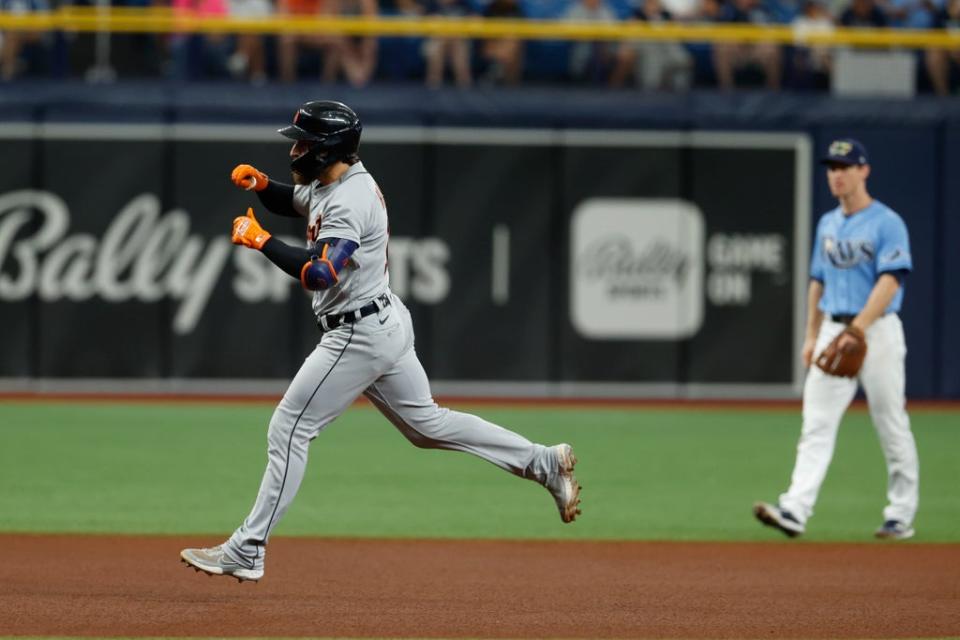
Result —
[[379, 313], [325, 333], [294, 376], [270, 420], [267, 469], [253, 510], [224, 547], [229, 557], [263, 566], [270, 532], [300, 488], [310, 441], [361, 393], [418, 447], [472, 453], [541, 484], [556, 466], [547, 447], [437, 406], [414, 351], [410, 313], [391, 295]]

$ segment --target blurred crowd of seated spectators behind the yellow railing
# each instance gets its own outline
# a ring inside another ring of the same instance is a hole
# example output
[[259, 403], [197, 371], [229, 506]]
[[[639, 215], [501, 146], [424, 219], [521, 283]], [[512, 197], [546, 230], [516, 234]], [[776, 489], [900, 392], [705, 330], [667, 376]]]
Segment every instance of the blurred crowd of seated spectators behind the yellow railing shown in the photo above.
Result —
[[[97, 0], [92, 0], [96, 2]], [[103, 0], [106, 1], [106, 0]], [[8, 12], [47, 0], [0, 0]], [[90, 6], [90, 0], [76, 3]], [[444, 16], [617, 23], [751, 23], [797, 31], [834, 26], [960, 30], [960, 0], [114, 0], [202, 16]], [[2, 79], [85, 75], [233, 79], [256, 84], [373, 81], [517, 85], [573, 83], [646, 90], [763, 86], [824, 90], [837, 49], [778, 44], [551, 42], [513, 38], [0, 33]], [[960, 49], [909, 52], [922, 91], [960, 87]]]

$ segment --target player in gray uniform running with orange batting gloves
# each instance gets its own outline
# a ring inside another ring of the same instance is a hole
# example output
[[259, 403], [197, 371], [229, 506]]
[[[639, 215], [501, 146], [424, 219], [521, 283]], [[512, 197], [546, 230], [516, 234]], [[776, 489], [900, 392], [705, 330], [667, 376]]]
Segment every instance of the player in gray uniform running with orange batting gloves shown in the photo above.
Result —
[[238, 581], [263, 576], [270, 532], [300, 487], [310, 441], [360, 394], [414, 445], [472, 453], [545, 486], [564, 522], [580, 513], [570, 445], [534, 444], [433, 401], [414, 351], [410, 313], [389, 288], [387, 207], [357, 154], [361, 128], [342, 103], [307, 102], [293, 124], [280, 129], [294, 141], [293, 185], [249, 165], [239, 165], [231, 175], [237, 186], [256, 191], [273, 213], [307, 219], [305, 249], [272, 237], [252, 209], [234, 220], [232, 239], [261, 251], [314, 292], [321, 338], [270, 420], [267, 469], [250, 515], [223, 544], [180, 553], [199, 571]]

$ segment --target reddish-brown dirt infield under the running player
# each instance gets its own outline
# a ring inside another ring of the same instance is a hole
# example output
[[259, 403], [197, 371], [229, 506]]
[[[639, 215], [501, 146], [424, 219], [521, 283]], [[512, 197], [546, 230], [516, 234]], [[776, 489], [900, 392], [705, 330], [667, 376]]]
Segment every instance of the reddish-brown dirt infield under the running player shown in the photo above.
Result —
[[0, 636], [894, 638], [960, 635], [960, 545], [0, 535]]

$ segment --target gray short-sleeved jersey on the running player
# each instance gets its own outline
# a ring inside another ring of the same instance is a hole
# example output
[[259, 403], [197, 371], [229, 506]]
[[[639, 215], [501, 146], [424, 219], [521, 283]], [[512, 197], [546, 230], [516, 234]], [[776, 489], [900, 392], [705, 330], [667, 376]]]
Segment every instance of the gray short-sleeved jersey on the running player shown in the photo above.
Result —
[[309, 221], [308, 249], [327, 238], [343, 238], [360, 245], [340, 271], [340, 283], [314, 292], [313, 312], [317, 318], [359, 309], [387, 292], [387, 207], [363, 163], [352, 165], [339, 180], [326, 186], [316, 181], [296, 185], [293, 206]]

